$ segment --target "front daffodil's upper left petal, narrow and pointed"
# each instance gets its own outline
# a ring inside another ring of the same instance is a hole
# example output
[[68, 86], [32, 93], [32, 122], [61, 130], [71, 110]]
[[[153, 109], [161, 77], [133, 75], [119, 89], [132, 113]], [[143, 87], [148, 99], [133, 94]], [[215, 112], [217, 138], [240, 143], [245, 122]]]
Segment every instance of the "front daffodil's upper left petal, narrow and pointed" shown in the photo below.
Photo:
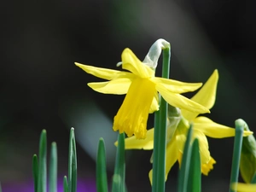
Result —
[[111, 80], [111, 79], [116, 79], [120, 76], [121, 77], [126, 77], [126, 75], [130, 76], [130, 74], [127, 72], [120, 72], [113, 69], [102, 68], [102, 67], [92, 67], [92, 66], [80, 64], [78, 62], [75, 62], [75, 65], [83, 69], [86, 73], [90, 73], [101, 79]]

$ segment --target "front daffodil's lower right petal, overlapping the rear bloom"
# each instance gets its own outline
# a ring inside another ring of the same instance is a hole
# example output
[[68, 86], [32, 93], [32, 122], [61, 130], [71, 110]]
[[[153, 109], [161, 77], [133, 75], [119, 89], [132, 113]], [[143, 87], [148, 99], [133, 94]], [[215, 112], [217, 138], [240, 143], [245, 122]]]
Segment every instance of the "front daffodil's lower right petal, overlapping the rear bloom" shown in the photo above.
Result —
[[183, 108], [194, 113], [210, 113], [207, 108], [201, 106], [197, 102], [189, 100], [184, 96], [170, 92], [162, 84], [156, 84], [156, 90], [158, 90], [160, 92], [160, 95], [164, 97], [166, 102], [168, 102], [173, 107]]

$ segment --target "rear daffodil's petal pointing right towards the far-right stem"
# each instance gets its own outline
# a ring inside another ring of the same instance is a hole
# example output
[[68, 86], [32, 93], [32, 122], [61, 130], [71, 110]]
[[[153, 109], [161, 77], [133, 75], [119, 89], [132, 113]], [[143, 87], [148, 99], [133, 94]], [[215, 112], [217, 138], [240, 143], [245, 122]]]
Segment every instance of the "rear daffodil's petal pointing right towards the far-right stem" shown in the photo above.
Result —
[[[224, 138], [224, 137], [234, 137], [235, 129], [220, 125], [213, 122], [207, 117], [197, 117], [194, 119], [194, 129], [202, 131], [205, 135], [212, 138]], [[248, 136], [253, 134], [252, 131], [244, 131], [243, 136]]]

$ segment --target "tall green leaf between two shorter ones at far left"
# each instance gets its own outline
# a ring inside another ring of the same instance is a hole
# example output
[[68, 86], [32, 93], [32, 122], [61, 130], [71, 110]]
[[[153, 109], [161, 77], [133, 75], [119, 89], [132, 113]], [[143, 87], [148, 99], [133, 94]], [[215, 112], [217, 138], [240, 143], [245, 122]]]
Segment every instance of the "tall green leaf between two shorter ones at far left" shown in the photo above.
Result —
[[37, 192], [46, 192], [46, 155], [47, 141], [46, 131], [43, 130], [39, 142], [39, 157], [38, 157], [38, 190]]

